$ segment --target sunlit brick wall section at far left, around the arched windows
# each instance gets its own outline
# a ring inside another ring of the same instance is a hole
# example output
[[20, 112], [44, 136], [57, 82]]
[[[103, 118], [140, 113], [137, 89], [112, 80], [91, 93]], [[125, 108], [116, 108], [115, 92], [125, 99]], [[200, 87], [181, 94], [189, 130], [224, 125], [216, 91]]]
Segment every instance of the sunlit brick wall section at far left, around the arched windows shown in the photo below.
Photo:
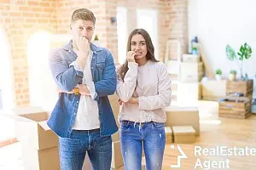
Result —
[[10, 57], [14, 66], [15, 105], [29, 105], [26, 43], [34, 27], [55, 30], [55, 1], [0, 0], [3, 31], [10, 43]]

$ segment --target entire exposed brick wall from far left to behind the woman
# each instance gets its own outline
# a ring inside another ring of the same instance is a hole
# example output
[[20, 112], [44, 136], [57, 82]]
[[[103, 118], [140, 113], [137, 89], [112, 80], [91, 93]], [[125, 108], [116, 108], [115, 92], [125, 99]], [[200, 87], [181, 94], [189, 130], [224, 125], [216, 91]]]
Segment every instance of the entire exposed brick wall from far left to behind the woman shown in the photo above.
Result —
[[187, 0], [0, 0], [0, 26], [9, 37], [14, 66], [15, 105], [26, 106], [30, 102], [26, 43], [33, 31], [43, 28], [68, 34], [73, 10], [90, 8], [96, 15], [95, 33], [117, 62], [117, 30], [110, 18], [116, 16], [118, 6], [128, 9], [129, 32], [136, 28], [136, 8], [158, 10], [160, 60], [165, 56], [166, 41], [172, 37], [180, 37], [183, 52], [187, 50]]

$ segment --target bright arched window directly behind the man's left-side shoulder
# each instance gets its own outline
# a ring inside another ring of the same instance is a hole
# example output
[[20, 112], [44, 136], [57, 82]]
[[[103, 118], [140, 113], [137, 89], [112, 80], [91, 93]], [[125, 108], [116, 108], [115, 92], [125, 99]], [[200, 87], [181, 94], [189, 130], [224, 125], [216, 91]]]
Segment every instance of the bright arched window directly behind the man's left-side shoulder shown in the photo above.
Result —
[[27, 42], [28, 81], [32, 106], [51, 111], [58, 98], [57, 87], [49, 70], [49, 51], [61, 47], [70, 39], [66, 35], [53, 35], [38, 31]]

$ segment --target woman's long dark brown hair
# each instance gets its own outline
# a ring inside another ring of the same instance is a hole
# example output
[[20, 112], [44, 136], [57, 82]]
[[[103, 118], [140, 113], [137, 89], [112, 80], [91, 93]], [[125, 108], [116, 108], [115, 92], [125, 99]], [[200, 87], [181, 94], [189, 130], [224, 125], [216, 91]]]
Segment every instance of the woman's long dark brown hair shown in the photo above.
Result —
[[[127, 42], [127, 52], [131, 51], [131, 37], [133, 37], [134, 35], [140, 34], [144, 37], [145, 42], [146, 42], [146, 46], [148, 49], [148, 52], [146, 54], [146, 59], [150, 59], [154, 62], [158, 62], [157, 59], [154, 58], [154, 45], [151, 41], [151, 38], [148, 34], [148, 31], [140, 28], [140, 29], [135, 29], [133, 31], [131, 31], [131, 34], [128, 37], [128, 42]], [[125, 61], [125, 64], [123, 64], [120, 68], [119, 71], [117, 71], [118, 76], [122, 78], [122, 80], [124, 81], [125, 78], [125, 74], [126, 72], [129, 70], [128, 68], [128, 61]]]

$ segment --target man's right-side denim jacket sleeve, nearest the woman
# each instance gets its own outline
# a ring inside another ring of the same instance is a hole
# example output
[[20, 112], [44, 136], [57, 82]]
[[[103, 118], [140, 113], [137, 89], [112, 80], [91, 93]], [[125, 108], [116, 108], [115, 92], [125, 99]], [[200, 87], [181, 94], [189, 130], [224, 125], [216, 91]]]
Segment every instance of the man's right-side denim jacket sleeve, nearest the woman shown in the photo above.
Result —
[[115, 66], [113, 63], [113, 56], [108, 51], [105, 68], [102, 74], [102, 80], [95, 82], [94, 84], [96, 89], [95, 100], [98, 100], [99, 97], [112, 95], [116, 90], [117, 80]]

